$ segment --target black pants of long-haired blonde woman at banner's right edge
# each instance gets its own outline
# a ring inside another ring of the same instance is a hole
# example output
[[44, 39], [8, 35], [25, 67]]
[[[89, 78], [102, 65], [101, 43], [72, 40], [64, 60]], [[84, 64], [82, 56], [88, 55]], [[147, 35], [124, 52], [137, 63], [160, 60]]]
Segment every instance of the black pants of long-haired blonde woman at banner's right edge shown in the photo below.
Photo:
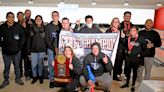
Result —
[[113, 68], [113, 79], [117, 78], [117, 75], [120, 75], [122, 73], [122, 63], [123, 63], [123, 53], [122, 51], [118, 51]]

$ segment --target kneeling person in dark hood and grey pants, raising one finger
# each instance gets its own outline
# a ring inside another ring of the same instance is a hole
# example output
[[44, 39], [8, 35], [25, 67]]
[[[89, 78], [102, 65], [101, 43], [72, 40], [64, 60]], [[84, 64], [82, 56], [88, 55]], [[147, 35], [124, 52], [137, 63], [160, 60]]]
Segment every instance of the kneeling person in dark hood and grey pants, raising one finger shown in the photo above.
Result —
[[98, 42], [91, 45], [91, 53], [86, 55], [83, 62], [83, 74], [80, 77], [80, 83], [84, 88], [95, 86], [95, 82], [89, 79], [87, 66], [89, 65], [95, 81], [98, 85], [104, 87], [105, 92], [109, 92], [112, 84], [112, 77], [109, 72], [113, 69], [112, 63], [107, 55], [101, 52], [101, 47]]

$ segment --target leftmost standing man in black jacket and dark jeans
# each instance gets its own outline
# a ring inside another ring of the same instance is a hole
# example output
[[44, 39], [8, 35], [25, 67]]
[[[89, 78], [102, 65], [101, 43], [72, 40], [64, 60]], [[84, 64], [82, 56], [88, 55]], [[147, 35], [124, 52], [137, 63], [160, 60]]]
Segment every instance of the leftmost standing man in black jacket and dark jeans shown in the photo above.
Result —
[[14, 21], [14, 14], [6, 14], [7, 21], [0, 26], [0, 46], [2, 47], [2, 56], [4, 61], [4, 81], [0, 89], [9, 85], [9, 73], [11, 62], [14, 64], [15, 82], [24, 85], [20, 78], [20, 55], [21, 48], [24, 44], [25, 37], [22, 27]]

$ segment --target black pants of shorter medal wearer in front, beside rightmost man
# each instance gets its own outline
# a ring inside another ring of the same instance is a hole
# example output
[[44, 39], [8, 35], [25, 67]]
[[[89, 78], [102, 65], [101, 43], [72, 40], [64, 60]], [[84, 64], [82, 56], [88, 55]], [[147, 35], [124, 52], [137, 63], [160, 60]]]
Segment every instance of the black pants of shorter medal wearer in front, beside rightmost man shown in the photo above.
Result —
[[125, 63], [126, 63], [126, 71], [127, 71], [127, 80], [126, 83], [129, 84], [130, 81], [130, 75], [131, 75], [131, 70], [133, 70], [133, 79], [132, 79], [132, 86], [135, 85], [136, 82], [136, 78], [137, 78], [137, 69], [139, 67], [140, 64], [140, 58], [137, 57], [131, 57], [129, 55], [127, 55], [125, 57]]

